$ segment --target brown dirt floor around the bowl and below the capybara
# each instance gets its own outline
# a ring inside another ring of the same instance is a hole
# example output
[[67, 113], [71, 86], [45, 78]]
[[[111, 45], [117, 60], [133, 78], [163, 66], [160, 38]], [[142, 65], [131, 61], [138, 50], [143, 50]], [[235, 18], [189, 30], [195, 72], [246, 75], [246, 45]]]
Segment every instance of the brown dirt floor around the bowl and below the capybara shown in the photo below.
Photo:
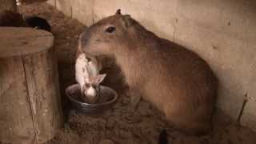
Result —
[[103, 114], [85, 115], [70, 109], [64, 90], [74, 84], [74, 57], [78, 34], [86, 29], [82, 23], [64, 16], [46, 3], [20, 6], [25, 15], [46, 18], [52, 26], [55, 37], [54, 50], [58, 56], [59, 81], [62, 105], [66, 122], [56, 137], [46, 144], [156, 144], [162, 129], [168, 133], [171, 144], [254, 144], [256, 134], [236, 125], [221, 112], [214, 116], [214, 130], [211, 134], [195, 137], [187, 136], [171, 126], [167, 126], [162, 114], [148, 102], [140, 102], [138, 110], [132, 113], [130, 99], [126, 96], [126, 86], [122, 82], [120, 70], [108, 66], [103, 71], [108, 74], [104, 85], [118, 91], [118, 102]]

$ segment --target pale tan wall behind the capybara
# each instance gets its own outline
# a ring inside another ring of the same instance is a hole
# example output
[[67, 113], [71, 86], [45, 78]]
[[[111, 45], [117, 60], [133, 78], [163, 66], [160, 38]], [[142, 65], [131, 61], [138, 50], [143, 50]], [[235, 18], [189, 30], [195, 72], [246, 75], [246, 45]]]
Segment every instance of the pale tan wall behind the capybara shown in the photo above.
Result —
[[256, 130], [256, 2], [254, 0], [50, 0], [86, 25], [130, 14], [163, 38], [194, 50], [220, 80], [218, 107]]

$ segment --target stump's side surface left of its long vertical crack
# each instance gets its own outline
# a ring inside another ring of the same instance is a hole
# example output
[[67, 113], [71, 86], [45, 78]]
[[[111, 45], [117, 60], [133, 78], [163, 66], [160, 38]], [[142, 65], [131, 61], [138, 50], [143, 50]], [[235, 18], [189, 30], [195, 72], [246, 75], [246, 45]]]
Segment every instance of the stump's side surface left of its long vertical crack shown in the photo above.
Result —
[[22, 57], [0, 59], [0, 141], [34, 141]]

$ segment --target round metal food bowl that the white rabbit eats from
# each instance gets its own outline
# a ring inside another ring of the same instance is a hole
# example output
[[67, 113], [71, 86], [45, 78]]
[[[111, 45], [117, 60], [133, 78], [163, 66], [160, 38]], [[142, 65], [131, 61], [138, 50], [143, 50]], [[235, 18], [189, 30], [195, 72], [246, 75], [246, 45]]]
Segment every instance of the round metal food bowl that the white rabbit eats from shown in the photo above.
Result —
[[66, 95], [70, 99], [70, 102], [74, 109], [84, 114], [97, 114], [109, 109], [118, 98], [117, 92], [110, 89], [110, 87], [100, 86], [99, 89], [101, 94], [100, 97], [107, 99], [103, 100], [103, 102], [98, 102], [94, 104], [82, 101], [80, 86], [78, 84], [68, 86], [66, 88]]

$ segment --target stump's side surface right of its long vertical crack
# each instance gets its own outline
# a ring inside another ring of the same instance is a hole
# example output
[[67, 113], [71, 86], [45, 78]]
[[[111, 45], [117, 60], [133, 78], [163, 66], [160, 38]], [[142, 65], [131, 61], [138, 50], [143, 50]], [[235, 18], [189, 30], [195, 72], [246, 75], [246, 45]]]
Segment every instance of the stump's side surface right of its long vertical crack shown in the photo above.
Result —
[[23, 57], [30, 110], [38, 142], [53, 138], [62, 123], [53, 50]]

